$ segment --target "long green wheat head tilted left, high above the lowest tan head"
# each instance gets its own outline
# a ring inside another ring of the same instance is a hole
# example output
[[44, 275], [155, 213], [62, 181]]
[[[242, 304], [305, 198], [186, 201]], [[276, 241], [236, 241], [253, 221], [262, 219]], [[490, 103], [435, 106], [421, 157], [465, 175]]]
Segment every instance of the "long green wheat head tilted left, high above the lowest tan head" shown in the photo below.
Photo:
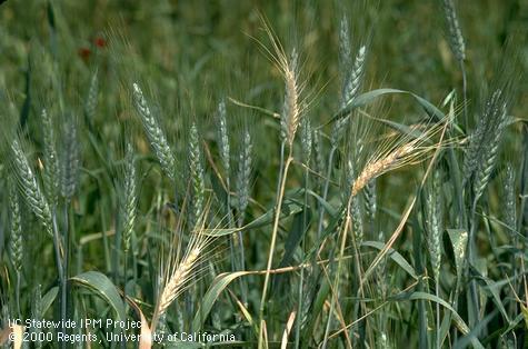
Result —
[[172, 181], [176, 180], [176, 159], [170, 150], [169, 142], [158, 123], [158, 120], [151, 113], [143, 92], [138, 83], [133, 83], [133, 100], [136, 109], [141, 118], [141, 123], [147, 133], [150, 147], [155, 151], [156, 157], [161, 166], [163, 173]]

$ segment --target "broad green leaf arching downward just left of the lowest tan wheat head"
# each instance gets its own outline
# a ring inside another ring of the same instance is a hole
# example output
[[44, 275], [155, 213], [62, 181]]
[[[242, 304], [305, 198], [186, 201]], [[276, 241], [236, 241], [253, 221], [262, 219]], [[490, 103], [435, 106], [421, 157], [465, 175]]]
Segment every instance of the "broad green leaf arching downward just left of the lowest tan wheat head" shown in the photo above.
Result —
[[70, 281], [93, 291], [96, 295], [104, 299], [113, 310], [116, 310], [120, 321], [127, 319], [124, 303], [119, 296], [116, 286], [104, 275], [99, 271], [87, 271], [71, 278]]

